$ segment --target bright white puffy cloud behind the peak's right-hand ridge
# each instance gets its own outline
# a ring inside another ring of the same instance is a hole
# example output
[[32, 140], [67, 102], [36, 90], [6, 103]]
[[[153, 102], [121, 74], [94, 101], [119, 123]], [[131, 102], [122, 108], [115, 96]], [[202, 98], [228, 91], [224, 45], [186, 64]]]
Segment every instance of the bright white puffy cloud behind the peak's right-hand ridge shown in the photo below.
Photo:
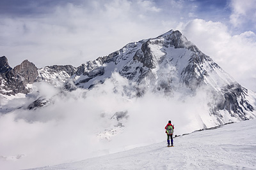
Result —
[[225, 24], [200, 19], [188, 22], [182, 32], [239, 83], [256, 90], [252, 82], [256, 74], [254, 32], [232, 35]]

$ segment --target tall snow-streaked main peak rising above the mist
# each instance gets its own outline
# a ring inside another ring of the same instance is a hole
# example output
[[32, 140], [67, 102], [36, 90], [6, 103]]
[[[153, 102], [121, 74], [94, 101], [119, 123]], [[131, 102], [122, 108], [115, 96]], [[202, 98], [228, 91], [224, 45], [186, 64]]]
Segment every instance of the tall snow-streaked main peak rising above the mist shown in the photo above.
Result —
[[[171, 30], [157, 38], [129, 43], [81, 67], [84, 69], [74, 78], [78, 87], [92, 89], [116, 72], [138, 85], [134, 87], [136, 96], [143, 96], [148, 90], [167, 96], [177, 92], [193, 96], [198, 89], [205, 89], [211, 94], [209, 113], [228, 113], [228, 118], [216, 116], [216, 124], [255, 117], [254, 102], [243, 95], [248, 95], [248, 91], [180, 31]], [[232, 118], [234, 113], [236, 118]]]

